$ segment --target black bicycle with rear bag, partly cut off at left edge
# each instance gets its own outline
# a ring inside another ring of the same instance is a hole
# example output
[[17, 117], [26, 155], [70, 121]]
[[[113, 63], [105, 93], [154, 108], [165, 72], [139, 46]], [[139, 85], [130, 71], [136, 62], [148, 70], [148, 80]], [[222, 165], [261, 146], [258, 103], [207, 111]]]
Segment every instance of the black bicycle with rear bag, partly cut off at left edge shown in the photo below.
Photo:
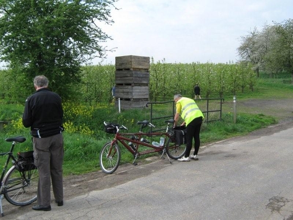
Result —
[[[39, 174], [34, 164], [33, 151], [18, 153], [13, 155], [14, 146], [22, 143], [25, 137], [18, 136], [6, 138], [5, 141], [12, 142], [9, 152], [0, 153], [1, 156], [7, 155], [7, 159], [0, 177], [0, 211], [2, 210], [2, 198], [13, 205], [28, 205], [37, 200]], [[13, 166], [7, 171], [9, 161], [12, 160]]]

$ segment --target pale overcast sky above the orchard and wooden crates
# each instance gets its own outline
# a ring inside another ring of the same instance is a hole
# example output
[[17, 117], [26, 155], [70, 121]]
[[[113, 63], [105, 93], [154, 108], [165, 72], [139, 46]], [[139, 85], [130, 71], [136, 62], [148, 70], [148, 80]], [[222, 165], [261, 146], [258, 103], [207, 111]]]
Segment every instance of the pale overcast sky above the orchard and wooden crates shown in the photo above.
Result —
[[236, 62], [241, 36], [293, 18], [293, 0], [119, 0], [115, 6], [115, 23], [102, 27], [113, 38], [103, 45], [117, 48], [103, 64], [126, 55], [167, 63]]

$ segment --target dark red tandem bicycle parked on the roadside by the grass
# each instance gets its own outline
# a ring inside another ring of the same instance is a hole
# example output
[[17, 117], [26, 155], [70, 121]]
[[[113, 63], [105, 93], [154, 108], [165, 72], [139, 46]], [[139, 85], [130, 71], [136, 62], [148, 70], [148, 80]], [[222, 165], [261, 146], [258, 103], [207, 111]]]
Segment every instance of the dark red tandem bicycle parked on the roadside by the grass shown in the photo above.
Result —
[[[154, 125], [147, 120], [137, 122], [141, 125], [139, 132], [123, 133], [121, 130], [127, 130], [123, 125], [115, 123], [104, 122], [105, 132], [115, 134], [112, 141], [107, 142], [100, 153], [100, 167], [105, 174], [114, 173], [120, 163], [121, 150], [120, 146], [123, 146], [134, 156], [132, 164], [137, 165], [135, 162], [140, 155], [150, 154], [155, 152], [162, 152], [161, 158], [166, 153], [171, 162], [171, 159], [181, 158], [186, 152], [186, 144], [177, 143], [173, 128], [169, 128], [170, 124], [174, 123], [174, 119], [165, 121], [167, 123], [166, 132], [143, 132], [143, 129], [147, 126], [155, 128]], [[161, 137], [161, 143], [150, 143], [145, 137]]]

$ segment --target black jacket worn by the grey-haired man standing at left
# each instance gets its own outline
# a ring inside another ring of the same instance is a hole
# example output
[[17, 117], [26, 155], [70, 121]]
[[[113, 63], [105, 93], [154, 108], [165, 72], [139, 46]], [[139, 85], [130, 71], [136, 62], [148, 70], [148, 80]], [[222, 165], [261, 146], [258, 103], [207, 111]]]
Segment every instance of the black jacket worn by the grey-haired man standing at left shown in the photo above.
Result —
[[25, 100], [22, 124], [31, 128], [34, 137], [49, 137], [63, 132], [61, 97], [41, 88]]

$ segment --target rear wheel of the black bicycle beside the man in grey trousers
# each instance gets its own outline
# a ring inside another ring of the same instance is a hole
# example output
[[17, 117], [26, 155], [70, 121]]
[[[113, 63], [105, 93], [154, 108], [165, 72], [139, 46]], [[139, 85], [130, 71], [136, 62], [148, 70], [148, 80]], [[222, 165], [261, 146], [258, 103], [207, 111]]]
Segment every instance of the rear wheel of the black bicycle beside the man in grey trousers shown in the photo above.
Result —
[[[33, 162], [26, 168], [35, 166]], [[23, 177], [25, 176], [25, 178]], [[37, 169], [19, 171], [16, 166], [9, 169], [4, 177], [4, 197], [13, 205], [28, 205], [37, 200], [39, 173]]]

